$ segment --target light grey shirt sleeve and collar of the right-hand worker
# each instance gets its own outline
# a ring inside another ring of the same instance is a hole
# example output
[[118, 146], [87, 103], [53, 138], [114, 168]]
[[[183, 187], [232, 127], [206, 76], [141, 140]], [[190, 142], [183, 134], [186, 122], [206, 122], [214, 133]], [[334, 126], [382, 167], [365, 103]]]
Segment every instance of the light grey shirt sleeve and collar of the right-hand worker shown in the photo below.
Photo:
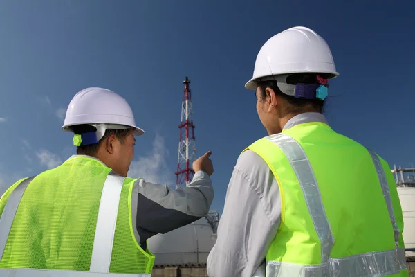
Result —
[[[327, 123], [322, 114], [304, 113], [288, 120], [284, 128], [307, 122]], [[243, 152], [234, 166], [216, 244], [208, 257], [209, 277], [251, 277], [265, 272], [265, 256], [277, 235], [280, 217], [281, 198], [273, 172], [258, 154]]]

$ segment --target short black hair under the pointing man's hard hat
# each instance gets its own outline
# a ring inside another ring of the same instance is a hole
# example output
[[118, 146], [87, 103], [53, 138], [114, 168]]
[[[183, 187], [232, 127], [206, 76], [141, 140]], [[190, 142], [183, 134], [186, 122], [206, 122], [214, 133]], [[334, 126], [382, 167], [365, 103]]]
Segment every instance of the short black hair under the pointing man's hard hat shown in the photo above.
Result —
[[[76, 125], [76, 126], [71, 127], [71, 129], [73, 130], [75, 134], [96, 132], [97, 130], [95, 127], [88, 125], [88, 124]], [[125, 138], [129, 135], [130, 132], [131, 132], [131, 129], [106, 129], [104, 136], [102, 136], [102, 138], [100, 139], [100, 141], [98, 141], [98, 143], [78, 146], [76, 150], [76, 154], [88, 155], [88, 156], [93, 157], [95, 156], [95, 154], [97, 154], [104, 139], [111, 136], [111, 134], [115, 135], [118, 141], [120, 141], [120, 143], [124, 143]]]

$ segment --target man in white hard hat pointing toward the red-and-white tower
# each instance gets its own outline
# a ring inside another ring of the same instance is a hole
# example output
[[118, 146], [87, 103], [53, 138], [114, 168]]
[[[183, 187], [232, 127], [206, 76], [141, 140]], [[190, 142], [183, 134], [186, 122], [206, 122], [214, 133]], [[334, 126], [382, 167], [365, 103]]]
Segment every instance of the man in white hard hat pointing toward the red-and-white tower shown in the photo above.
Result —
[[127, 177], [134, 136], [144, 132], [108, 89], [77, 93], [62, 128], [75, 133], [77, 155], [0, 199], [0, 276], [150, 276], [146, 240], [209, 211], [211, 152], [194, 161], [185, 188]]

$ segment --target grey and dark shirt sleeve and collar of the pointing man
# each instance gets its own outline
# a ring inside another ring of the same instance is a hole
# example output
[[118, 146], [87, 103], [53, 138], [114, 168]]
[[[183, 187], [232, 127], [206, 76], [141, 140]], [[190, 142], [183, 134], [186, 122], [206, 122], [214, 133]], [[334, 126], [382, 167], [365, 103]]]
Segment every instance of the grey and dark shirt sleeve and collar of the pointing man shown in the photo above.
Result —
[[[102, 165], [106, 166], [104, 163]], [[199, 220], [209, 212], [213, 197], [212, 181], [203, 171], [194, 174], [189, 186], [176, 190], [138, 179], [131, 195], [131, 219], [133, 226], [136, 226], [133, 232], [137, 242], [145, 248], [145, 241], [152, 236]]]

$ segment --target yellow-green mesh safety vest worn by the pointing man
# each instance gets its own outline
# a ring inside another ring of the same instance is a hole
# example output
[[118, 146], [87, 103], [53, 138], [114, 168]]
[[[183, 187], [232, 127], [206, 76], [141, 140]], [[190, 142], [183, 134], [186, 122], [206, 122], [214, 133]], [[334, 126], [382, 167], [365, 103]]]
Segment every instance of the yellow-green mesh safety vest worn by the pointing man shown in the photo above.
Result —
[[75, 156], [0, 199], [0, 276], [151, 276], [131, 220], [136, 179]]

